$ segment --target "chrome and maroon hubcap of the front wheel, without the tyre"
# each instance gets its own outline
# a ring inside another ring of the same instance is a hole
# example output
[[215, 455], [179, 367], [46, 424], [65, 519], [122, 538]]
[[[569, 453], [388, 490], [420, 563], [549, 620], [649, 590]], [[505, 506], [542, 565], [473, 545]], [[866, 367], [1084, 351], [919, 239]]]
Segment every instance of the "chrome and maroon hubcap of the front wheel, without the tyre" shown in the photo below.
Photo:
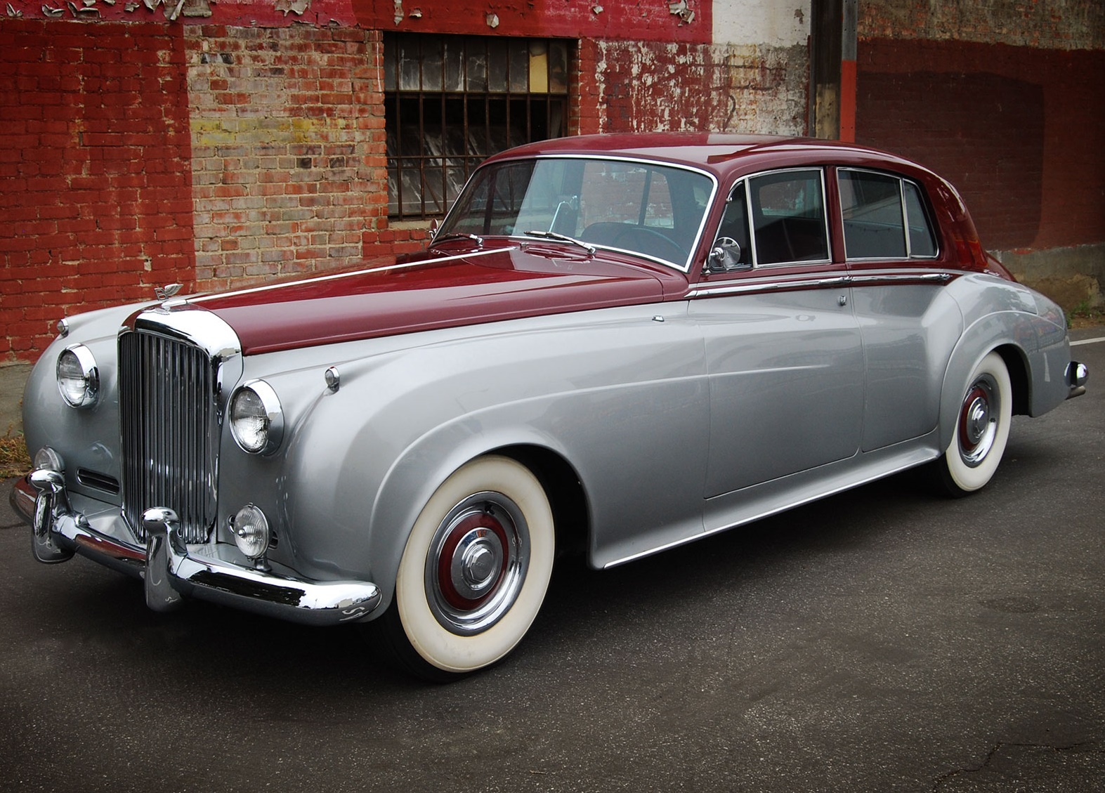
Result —
[[430, 610], [453, 633], [486, 631], [517, 600], [528, 563], [529, 532], [518, 506], [501, 493], [473, 494], [450, 510], [430, 544]]

